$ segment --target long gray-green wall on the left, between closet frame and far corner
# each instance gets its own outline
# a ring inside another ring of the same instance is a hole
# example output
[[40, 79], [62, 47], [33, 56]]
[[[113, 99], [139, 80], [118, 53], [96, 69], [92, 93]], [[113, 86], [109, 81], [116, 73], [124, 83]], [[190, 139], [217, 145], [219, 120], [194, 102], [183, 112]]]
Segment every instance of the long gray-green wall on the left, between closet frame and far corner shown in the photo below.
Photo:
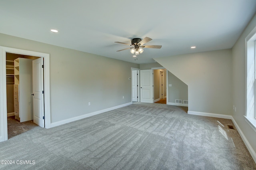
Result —
[[128, 78], [138, 64], [5, 34], [0, 46], [50, 54], [51, 123], [131, 102]]

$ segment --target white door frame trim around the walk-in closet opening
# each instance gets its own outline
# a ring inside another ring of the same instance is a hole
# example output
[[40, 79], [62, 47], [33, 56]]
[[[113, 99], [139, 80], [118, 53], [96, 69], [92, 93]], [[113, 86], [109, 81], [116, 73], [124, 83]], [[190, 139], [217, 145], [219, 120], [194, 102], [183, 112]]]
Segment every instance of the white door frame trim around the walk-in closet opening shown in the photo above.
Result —
[[[50, 55], [47, 53], [40, 53], [35, 51], [27, 51], [22, 49], [15, 49], [10, 47], [0, 46], [0, 142], [8, 140], [7, 127], [7, 93], [6, 93], [6, 53], [13, 53], [19, 55], [28, 55], [44, 58], [44, 113], [45, 113], [45, 128], [50, 128]], [[42, 118], [43, 119], [43, 118]]]

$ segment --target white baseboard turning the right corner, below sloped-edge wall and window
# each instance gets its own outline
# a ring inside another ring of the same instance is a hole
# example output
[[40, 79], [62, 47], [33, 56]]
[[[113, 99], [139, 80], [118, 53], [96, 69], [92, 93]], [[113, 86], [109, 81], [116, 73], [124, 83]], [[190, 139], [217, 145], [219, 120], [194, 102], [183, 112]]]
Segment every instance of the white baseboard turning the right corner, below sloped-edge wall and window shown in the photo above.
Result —
[[253, 150], [252, 146], [244, 136], [244, 133], [236, 123], [235, 119], [231, 115], [221, 115], [221, 114], [215, 114], [215, 113], [204, 113], [204, 112], [196, 112], [196, 111], [188, 111], [188, 114], [190, 115], [199, 115], [199, 116], [207, 116], [207, 117], [217, 117], [217, 118], [223, 118], [223, 119], [231, 119], [234, 123], [238, 133], [240, 134], [242, 140], [244, 141], [244, 144], [246, 145], [246, 148], [250, 152], [254, 162], [256, 163], [256, 152]]

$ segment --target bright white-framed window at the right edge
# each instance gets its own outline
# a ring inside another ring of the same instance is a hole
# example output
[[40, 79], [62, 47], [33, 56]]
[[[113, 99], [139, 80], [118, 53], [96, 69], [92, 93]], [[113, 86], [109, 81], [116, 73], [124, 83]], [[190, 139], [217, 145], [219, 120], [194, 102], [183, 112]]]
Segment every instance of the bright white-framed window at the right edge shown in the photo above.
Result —
[[246, 122], [256, 131], [256, 28], [246, 37]]

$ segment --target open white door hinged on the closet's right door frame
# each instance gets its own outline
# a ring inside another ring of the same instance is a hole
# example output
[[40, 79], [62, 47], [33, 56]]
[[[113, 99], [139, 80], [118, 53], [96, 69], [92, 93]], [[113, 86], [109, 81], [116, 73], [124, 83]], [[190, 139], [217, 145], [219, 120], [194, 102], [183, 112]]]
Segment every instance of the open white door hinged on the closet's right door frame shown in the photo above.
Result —
[[33, 113], [34, 123], [44, 127], [44, 76], [43, 58], [33, 60]]

